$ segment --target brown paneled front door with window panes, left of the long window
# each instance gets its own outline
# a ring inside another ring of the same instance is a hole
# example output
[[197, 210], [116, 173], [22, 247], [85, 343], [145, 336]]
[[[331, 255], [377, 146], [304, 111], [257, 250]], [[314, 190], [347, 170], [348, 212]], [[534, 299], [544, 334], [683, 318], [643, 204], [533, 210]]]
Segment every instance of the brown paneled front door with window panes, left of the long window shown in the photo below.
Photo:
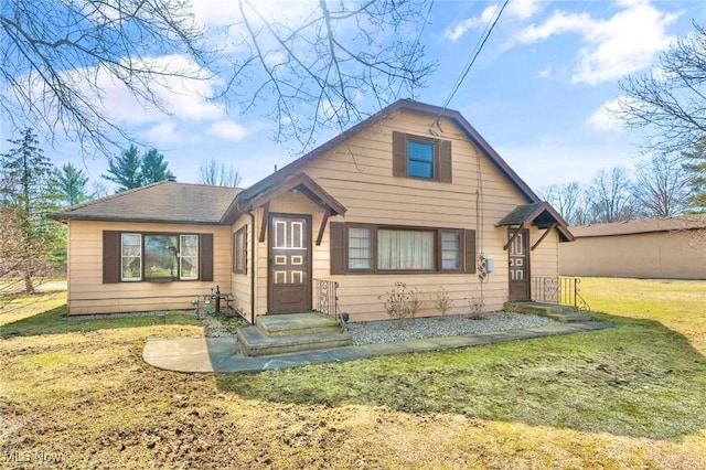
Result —
[[310, 225], [308, 215], [270, 216], [269, 313], [311, 310]]

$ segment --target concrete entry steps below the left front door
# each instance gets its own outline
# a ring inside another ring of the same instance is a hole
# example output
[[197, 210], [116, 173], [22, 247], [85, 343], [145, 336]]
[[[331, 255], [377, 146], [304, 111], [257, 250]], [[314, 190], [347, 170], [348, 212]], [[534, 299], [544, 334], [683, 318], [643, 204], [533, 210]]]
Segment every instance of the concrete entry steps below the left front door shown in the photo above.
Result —
[[240, 352], [249, 356], [327, 350], [351, 344], [341, 323], [319, 312], [264, 314], [255, 324], [238, 329]]

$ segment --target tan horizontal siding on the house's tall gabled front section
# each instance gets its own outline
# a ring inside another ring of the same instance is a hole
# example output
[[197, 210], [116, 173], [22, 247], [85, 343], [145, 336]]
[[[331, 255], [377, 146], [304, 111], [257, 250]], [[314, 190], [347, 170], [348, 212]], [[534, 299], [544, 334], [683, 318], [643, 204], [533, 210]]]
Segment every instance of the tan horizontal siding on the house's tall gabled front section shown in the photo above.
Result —
[[[341, 311], [349, 312], [352, 321], [386, 318], [379, 297], [384, 297], [396, 281], [405, 281], [409, 288], [419, 289], [425, 300], [419, 316], [438, 314], [434, 298], [439, 286], [443, 286], [452, 299], [453, 308], [449, 313], [468, 313], [469, 299], [472, 298], [482, 297], [485, 311], [499, 310], [507, 300], [507, 252], [503, 250], [507, 229], [495, 227], [494, 224], [516, 205], [527, 201], [505, 175], [469, 142], [464, 133], [445, 119], [441, 120], [443, 132], [439, 132], [437, 138], [451, 141], [452, 183], [393, 177], [393, 130], [429, 136], [431, 121], [432, 118], [426, 115], [394, 115], [309, 162], [301, 171], [345, 205], [345, 216], [332, 217], [332, 222], [475, 229], [478, 253], [484, 252], [493, 258], [495, 270], [484, 281], [481, 281], [477, 274], [331, 276], [330, 231], [327, 228], [321, 246], [312, 246], [313, 278], [339, 282]], [[480, 186], [479, 168], [482, 179]], [[298, 196], [306, 199], [301, 194]], [[315, 242], [321, 209], [314, 204], [309, 204], [308, 207], [295, 207], [290, 204], [291, 201], [278, 209], [278, 205], [272, 203], [270, 212], [287, 209], [295, 213], [313, 214], [311, 236]], [[481, 214], [477, 214], [477, 205], [482, 207]], [[257, 214], [259, 233], [261, 211]], [[533, 229], [532, 235], [536, 239], [539, 235], [535, 232], [538, 233]], [[554, 266], [554, 275], [557, 275], [556, 250], [554, 248], [553, 252], [552, 248], [556, 241], [556, 235], [547, 236], [538, 248], [537, 269], [541, 273], [549, 275]], [[267, 311], [266, 248], [265, 244], [258, 244], [258, 314]]]

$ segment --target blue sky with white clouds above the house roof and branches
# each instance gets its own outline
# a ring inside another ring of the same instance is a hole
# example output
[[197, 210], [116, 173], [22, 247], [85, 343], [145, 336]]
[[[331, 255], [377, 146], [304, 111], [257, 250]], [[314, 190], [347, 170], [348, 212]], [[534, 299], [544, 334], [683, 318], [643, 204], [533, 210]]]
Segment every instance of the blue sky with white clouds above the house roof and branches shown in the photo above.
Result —
[[[196, 18], [210, 26], [235, 15], [229, 10], [235, 2], [193, 3]], [[422, 41], [439, 67], [416, 99], [446, 102], [501, 3], [434, 3]], [[272, 2], [271, 11], [278, 8], [291, 12], [310, 3]], [[535, 190], [587, 183], [603, 168], [632, 168], [641, 138], [606, 113], [620, 97], [618, 81], [648, 71], [660, 51], [692, 31], [692, 21], [705, 20], [703, 1], [511, 0], [449, 108], [459, 110]], [[208, 93], [207, 83], [200, 89], [164, 90], [172, 118], [142, 110], [110, 83], [105, 86], [104, 105], [115, 121], [159, 149], [179, 181], [196, 182], [199, 164], [213, 158], [233, 164], [249, 185], [295, 158], [271, 141], [271, 121], [237, 109], [228, 113], [193, 93]], [[331, 136], [320, 135], [318, 143]], [[9, 137], [4, 126], [3, 151]], [[55, 148], [43, 147], [55, 164], [72, 161], [93, 181], [106, 183], [99, 178], [105, 158], [84, 159], [61, 138]]]

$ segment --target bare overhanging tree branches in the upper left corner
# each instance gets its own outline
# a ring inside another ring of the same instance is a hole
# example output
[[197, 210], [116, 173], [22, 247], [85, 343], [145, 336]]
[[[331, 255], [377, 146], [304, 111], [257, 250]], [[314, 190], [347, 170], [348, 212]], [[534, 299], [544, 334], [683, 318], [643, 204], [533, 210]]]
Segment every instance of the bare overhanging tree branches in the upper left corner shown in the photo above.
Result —
[[[160, 86], [210, 76], [204, 31], [186, 0], [7, 0], [0, 28], [3, 114], [15, 127], [32, 122], [82, 146], [106, 150], [120, 137], [130, 138], [101, 106], [106, 82], [165, 110]], [[183, 55], [192, 65], [153, 60], [170, 55]]]

